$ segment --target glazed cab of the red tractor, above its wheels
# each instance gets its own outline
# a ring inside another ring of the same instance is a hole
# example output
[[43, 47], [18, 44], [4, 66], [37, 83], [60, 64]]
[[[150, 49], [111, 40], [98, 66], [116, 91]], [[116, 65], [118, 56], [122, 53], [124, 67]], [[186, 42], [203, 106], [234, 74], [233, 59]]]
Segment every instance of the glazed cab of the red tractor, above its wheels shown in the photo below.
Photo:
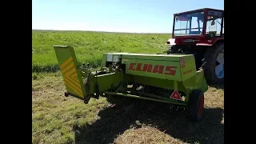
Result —
[[222, 37], [224, 37], [224, 10], [205, 8], [174, 14], [172, 38], [166, 44], [194, 42], [194, 44], [211, 45], [213, 41], [208, 40]]

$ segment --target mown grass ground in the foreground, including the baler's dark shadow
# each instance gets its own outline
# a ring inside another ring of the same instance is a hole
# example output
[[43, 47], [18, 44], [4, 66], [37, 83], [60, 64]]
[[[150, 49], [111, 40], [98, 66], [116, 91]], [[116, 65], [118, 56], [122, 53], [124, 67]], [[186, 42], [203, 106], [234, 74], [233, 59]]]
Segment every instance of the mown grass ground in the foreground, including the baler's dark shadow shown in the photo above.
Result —
[[223, 87], [206, 92], [202, 122], [148, 101], [111, 107], [106, 98], [91, 98], [86, 105], [64, 91], [60, 72], [33, 74], [32, 143], [224, 142]]

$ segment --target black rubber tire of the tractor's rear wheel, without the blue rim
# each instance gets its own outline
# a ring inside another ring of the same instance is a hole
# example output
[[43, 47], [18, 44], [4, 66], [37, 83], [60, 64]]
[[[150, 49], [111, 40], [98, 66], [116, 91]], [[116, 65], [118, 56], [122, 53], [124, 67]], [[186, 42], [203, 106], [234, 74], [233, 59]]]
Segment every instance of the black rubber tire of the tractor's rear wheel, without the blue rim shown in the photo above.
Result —
[[204, 74], [209, 84], [222, 84], [224, 77], [218, 78], [215, 74], [216, 58], [218, 54], [224, 50], [224, 42], [218, 42], [214, 47], [208, 48], [205, 54], [206, 65], [204, 66]]

